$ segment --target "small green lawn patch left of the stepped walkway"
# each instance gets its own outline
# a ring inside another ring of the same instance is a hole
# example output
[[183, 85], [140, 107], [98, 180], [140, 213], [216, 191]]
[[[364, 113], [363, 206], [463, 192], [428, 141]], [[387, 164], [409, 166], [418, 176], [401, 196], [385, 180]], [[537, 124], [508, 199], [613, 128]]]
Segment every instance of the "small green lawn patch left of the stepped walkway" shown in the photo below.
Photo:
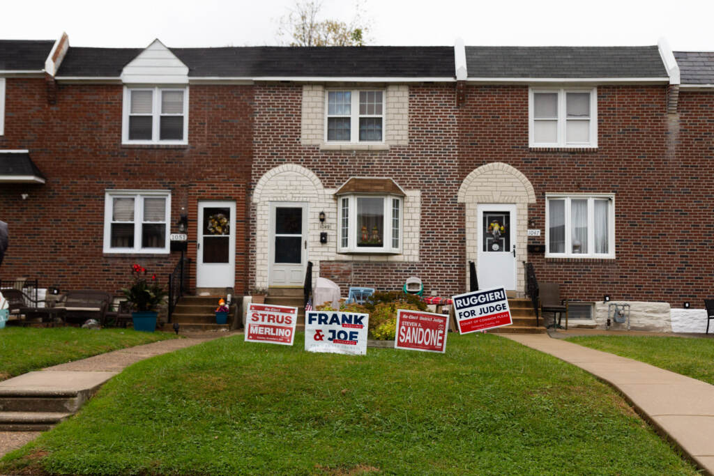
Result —
[[0, 329], [0, 380], [49, 365], [174, 337], [169, 333], [126, 329], [6, 327]]

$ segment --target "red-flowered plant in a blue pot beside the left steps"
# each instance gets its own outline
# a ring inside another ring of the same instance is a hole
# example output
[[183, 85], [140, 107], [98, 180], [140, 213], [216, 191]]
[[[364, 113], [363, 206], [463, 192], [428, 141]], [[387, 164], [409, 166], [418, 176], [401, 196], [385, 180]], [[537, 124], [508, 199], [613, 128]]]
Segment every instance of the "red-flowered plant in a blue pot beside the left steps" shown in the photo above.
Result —
[[131, 286], [121, 290], [132, 308], [131, 318], [134, 330], [154, 332], [156, 330], [156, 306], [166, 297], [166, 291], [159, 285], [156, 275], [146, 278], [146, 268], [131, 266]]

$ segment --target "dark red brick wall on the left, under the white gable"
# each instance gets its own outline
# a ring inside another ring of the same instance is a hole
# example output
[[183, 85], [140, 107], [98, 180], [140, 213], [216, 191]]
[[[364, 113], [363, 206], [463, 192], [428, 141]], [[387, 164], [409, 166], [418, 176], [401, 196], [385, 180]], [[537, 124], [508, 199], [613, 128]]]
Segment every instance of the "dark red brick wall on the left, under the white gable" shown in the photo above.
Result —
[[0, 278], [36, 276], [42, 287], [114, 292], [129, 280], [129, 265], [140, 263], [164, 280], [178, 253], [102, 251], [104, 191], [161, 189], [171, 190], [172, 231], [181, 207], [189, 211], [194, 263], [198, 200], [236, 201], [236, 291], [244, 290], [253, 87], [191, 86], [189, 97], [188, 146], [132, 147], [121, 145], [121, 85], [59, 84], [49, 106], [44, 79], [8, 79], [0, 149], [29, 149], [47, 183], [0, 188], [0, 220], [11, 234]]

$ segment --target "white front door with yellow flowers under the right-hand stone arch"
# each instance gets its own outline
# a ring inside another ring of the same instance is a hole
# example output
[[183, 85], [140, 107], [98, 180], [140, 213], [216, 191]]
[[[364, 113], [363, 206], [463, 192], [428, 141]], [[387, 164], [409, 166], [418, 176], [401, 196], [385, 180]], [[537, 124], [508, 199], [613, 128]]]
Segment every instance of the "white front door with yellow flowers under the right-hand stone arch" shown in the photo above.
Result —
[[478, 288], [516, 289], [516, 206], [478, 206]]

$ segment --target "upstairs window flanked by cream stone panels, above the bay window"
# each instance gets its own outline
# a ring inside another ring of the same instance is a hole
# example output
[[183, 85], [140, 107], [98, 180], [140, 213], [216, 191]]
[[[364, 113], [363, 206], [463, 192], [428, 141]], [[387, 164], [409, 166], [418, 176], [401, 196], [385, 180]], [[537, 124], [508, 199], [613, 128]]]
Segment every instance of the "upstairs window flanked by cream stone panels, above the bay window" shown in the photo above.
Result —
[[383, 91], [326, 91], [328, 142], [382, 142]]

